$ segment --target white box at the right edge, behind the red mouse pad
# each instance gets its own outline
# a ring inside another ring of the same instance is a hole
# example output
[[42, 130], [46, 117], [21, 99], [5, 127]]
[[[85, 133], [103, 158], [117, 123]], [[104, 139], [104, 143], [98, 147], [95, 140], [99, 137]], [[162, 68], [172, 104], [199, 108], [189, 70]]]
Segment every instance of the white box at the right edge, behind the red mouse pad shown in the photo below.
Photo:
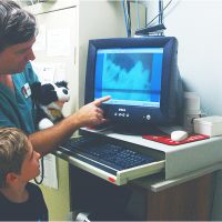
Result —
[[222, 134], [222, 117], [212, 115], [194, 119], [194, 132], [215, 137]]

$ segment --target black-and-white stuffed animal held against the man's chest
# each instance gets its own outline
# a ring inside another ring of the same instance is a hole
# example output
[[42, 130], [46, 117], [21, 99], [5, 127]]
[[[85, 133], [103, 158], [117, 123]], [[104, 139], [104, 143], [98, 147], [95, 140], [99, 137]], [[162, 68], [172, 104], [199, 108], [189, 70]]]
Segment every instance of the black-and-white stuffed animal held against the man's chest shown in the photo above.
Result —
[[62, 108], [70, 94], [65, 81], [31, 84], [32, 99], [37, 108], [37, 127], [43, 130], [63, 119]]

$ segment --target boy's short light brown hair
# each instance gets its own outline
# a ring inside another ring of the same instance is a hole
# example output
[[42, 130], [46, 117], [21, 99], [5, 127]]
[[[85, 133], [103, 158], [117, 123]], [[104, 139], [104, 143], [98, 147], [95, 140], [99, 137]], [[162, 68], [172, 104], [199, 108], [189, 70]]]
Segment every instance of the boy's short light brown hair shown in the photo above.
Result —
[[28, 138], [17, 128], [0, 128], [0, 188], [6, 188], [8, 173], [20, 173], [28, 153]]

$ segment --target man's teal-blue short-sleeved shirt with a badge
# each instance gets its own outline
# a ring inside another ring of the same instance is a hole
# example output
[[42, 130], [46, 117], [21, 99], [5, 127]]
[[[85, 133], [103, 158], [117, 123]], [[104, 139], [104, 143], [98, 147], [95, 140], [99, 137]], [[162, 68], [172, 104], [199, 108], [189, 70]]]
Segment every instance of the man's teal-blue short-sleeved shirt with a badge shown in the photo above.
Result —
[[[34, 124], [36, 111], [31, 93], [26, 93], [26, 90], [29, 85], [39, 80], [31, 63], [29, 62], [27, 64], [23, 72], [12, 74], [12, 81], [14, 84], [14, 92], [8, 87], [0, 84], [1, 91], [6, 92], [6, 94], [1, 93], [0, 98], [0, 127], [16, 127], [29, 134], [33, 133], [37, 130]], [[2, 102], [2, 100], [4, 100], [4, 102]], [[18, 121], [14, 119], [16, 115], [19, 119]]]

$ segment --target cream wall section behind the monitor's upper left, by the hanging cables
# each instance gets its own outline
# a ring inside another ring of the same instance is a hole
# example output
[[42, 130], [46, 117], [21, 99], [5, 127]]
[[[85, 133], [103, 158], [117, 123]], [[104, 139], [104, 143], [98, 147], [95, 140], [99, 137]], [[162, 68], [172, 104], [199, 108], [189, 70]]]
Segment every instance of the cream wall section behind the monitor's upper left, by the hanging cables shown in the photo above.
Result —
[[[101, 14], [101, 11], [104, 14]], [[141, 26], [145, 23], [145, 7], [139, 4]], [[137, 11], [135, 4], [131, 3], [132, 12], [132, 34], [137, 28]], [[124, 17], [121, 1], [113, 0], [84, 0], [79, 6], [79, 42], [80, 42], [80, 64], [87, 64], [87, 52], [89, 39], [101, 38], [121, 38], [127, 37], [124, 27]], [[108, 19], [109, 18], [109, 19]], [[90, 21], [90, 23], [89, 23]], [[91, 26], [92, 23], [97, 26]], [[84, 102], [84, 73], [85, 65], [81, 65], [79, 70], [79, 105]]]

